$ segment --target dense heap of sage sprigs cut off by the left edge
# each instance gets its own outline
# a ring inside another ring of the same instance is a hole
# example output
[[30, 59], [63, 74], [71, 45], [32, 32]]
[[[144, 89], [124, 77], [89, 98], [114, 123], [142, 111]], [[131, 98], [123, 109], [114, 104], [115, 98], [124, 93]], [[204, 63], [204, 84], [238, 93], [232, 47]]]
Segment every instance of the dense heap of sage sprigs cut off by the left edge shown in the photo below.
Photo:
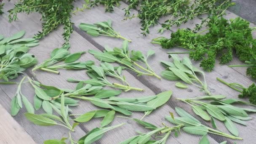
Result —
[[11, 37], [0, 35], [0, 80], [14, 79], [27, 68], [37, 64], [35, 56], [27, 52], [29, 47], [38, 45], [38, 40], [21, 38], [24, 35], [25, 31]]

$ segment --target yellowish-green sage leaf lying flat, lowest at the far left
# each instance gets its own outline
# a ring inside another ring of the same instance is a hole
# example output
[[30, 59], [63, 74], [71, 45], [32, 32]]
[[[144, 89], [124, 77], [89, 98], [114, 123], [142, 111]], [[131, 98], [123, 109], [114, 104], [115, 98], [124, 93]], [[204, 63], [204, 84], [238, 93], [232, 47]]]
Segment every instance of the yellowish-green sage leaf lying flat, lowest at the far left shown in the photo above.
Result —
[[32, 113], [25, 113], [24, 114], [27, 119], [34, 123], [35, 125], [41, 125], [41, 126], [51, 126], [56, 125], [57, 123], [54, 120], [51, 120], [50, 118], [43, 117], [42, 115], [35, 115]]

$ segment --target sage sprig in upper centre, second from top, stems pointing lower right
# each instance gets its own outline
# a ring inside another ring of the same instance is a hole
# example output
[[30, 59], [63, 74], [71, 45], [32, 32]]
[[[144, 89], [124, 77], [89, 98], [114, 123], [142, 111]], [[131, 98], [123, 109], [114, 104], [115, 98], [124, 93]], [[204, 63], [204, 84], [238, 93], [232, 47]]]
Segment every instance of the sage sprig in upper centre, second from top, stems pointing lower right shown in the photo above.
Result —
[[[147, 62], [148, 58], [155, 54], [155, 51], [149, 50], [147, 56], [144, 56], [141, 51], [129, 51], [128, 41], [126, 40], [123, 42], [122, 48], [105, 48], [104, 52], [95, 50], [89, 50], [88, 52], [93, 54], [94, 57], [100, 61], [122, 64], [126, 69], [136, 72], [138, 76], [149, 75], [161, 79]], [[139, 63], [144, 64], [146, 68]]]

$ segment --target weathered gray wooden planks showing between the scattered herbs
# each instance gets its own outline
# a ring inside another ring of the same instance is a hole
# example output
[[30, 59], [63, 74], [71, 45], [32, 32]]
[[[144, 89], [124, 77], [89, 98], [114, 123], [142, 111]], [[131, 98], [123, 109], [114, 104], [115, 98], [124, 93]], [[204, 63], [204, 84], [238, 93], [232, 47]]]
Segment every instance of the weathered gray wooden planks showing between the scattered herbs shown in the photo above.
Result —
[[[5, 11], [13, 7], [13, 1], [6, 3], [5, 5]], [[75, 6], [80, 7], [82, 5], [83, 0], [78, 0], [75, 3]], [[120, 8], [115, 8], [115, 13], [105, 13], [104, 7], [101, 5], [99, 7], [93, 8], [91, 10], [85, 10], [85, 12], [79, 12], [76, 16], [72, 17], [72, 21], [75, 23], [75, 32], [73, 32], [70, 43], [71, 48], [69, 49], [71, 52], [77, 52], [77, 51], [88, 51], [88, 49], [95, 49], [99, 50], [102, 49], [104, 45], [108, 45], [109, 47], [120, 47], [122, 45], [122, 40], [113, 39], [110, 37], [89, 37], [84, 32], [77, 29], [78, 25], [81, 22], [84, 23], [95, 23], [98, 21], [105, 21], [108, 19], [112, 19], [113, 21], [113, 27], [121, 33], [124, 37], [130, 38], [133, 42], [129, 43], [129, 48], [134, 50], [140, 50], [144, 53], [147, 53], [149, 49], [153, 49], [156, 51], [155, 56], [152, 57], [152, 59], [149, 60], [149, 64], [152, 66], [152, 68], [155, 70], [157, 74], [160, 74], [160, 72], [163, 70], [163, 67], [160, 65], [159, 61], [165, 60], [168, 61], [168, 55], [165, 53], [166, 51], [161, 49], [159, 45], [152, 45], [150, 41], [152, 38], [159, 37], [159, 36], [166, 36], [168, 37], [170, 35], [170, 32], [164, 32], [163, 35], [157, 34], [157, 29], [160, 28], [160, 25], [157, 25], [155, 27], [152, 27], [150, 30], [150, 34], [147, 35], [147, 37], [144, 37], [140, 34], [140, 24], [139, 19], [132, 19], [128, 21], [122, 21], [124, 11], [122, 8], [125, 8], [127, 5], [125, 3], [121, 2]], [[137, 13], [137, 11], [133, 10], [133, 13]], [[33, 34], [35, 34], [39, 29], [41, 29], [41, 21], [40, 21], [40, 15], [37, 13], [32, 13], [29, 16], [26, 16], [24, 14], [19, 14], [18, 17], [20, 21], [16, 21], [13, 23], [8, 23], [7, 13], [5, 13], [3, 16], [0, 16], [0, 25], [4, 27], [0, 27], [0, 33], [5, 36], [10, 36], [11, 34], [18, 32], [22, 29], [26, 30], [27, 34], [25, 37], [31, 37]], [[227, 18], [235, 17], [235, 14], [229, 13], [227, 15]], [[164, 21], [163, 18], [161, 21]], [[196, 22], [198, 22], [198, 19], [195, 19], [194, 21], [189, 21], [187, 24], [184, 24], [182, 27], [193, 27]], [[48, 59], [51, 51], [53, 48], [58, 48], [61, 46], [64, 41], [62, 40], [62, 27], [59, 27], [54, 32], [49, 34], [47, 37], [40, 40], [40, 45], [32, 48], [30, 50], [30, 53], [35, 54], [35, 56], [39, 59], [39, 63], [42, 62], [45, 59]], [[173, 31], [176, 31], [176, 27], [173, 27]], [[169, 50], [170, 51], [170, 50]], [[183, 51], [182, 49], [175, 48], [173, 51]], [[184, 55], [180, 55], [184, 56]], [[94, 57], [86, 53], [84, 54], [81, 59], [81, 61], [86, 60], [93, 60], [96, 61], [97, 64], [99, 64], [99, 61], [94, 59]], [[232, 64], [236, 64], [240, 62], [237, 59], [234, 59], [232, 61]], [[195, 65], [199, 65], [199, 62], [193, 62]], [[218, 63], [218, 62], [217, 62]], [[55, 85], [59, 88], [75, 88], [75, 83], [68, 83], [66, 79], [68, 77], [72, 77], [75, 79], [80, 80], [86, 80], [88, 79], [88, 76], [85, 75], [85, 71], [65, 71], [60, 70], [60, 75], [50, 74], [47, 72], [37, 71], [35, 72], [35, 76], [37, 80], [39, 80], [41, 83], [46, 85]], [[31, 72], [27, 71], [25, 75], [31, 75]], [[175, 98], [187, 98], [187, 97], [194, 97], [194, 96], [203, 96], [204, 93], [200, 92], [198, 88], [193, 87], [192, 85], [189, 85], [189, 89], [179, 89], [175, 87], [176, 82], [171, 82], [167, 80], [158, 80], [154, 77], [147, 77], [147, 76], [141, 76], [136, 77], [134, 74], [131, 74], [127, 71], [124, 72], [124, 75], [127, 77], [128, 82], [131, 83], [131, 85], [144, 88], [145, 92], [137, 92], [137, 91], [129, 91], [126, 93], [122, 93], [121, 97], [136, 97], [136, 96], [148, 96], [153, 95], [155, 93], [160, 93], [162, 91], [166, 90], [172, 90], [173, 96], [168, 101], [168, 104], [165, 104], [163, 107], [160, 107], [159, 109], [152, 112], [151, 115], [145, 117], [144, 120], [149, 121], [151, 123], [154, 123], [155, 125], [161, 126], [161, 123], [164, 122], [165, 124], [170, 124], [167, 121], [163, 119], [164, 115], [168, 115], [169, 112], [174, 112], [174, 107], [182, 107], [186, 109], [188, 112], [192, 113], [191, 109], [184, 103], [181, 103], [180, 101], [175, 100]], [[224, 94], [227, 95], [229, 98], [236, 98], [237, 92], [233, 91], [232, 89], [222, 85], [221, 83], [216, 81], [216, 77], [223, 77], [225, 80], [229, 82], [238, 82], [245, 86], [250, 85], [253, 83], [253, 81], [250, 79], [250, 77], [245, 75], [245, 69], [244, 68], [229, 68], [227, 65], [220, 65], [216, 64], [216, 67], [213, 72], [206, 73], [207, 75], [207, 83], [209, 87], [211, 88], [211, 92], [213, 94]], [[15, 81], [21, 80], [20, 76]], [[16, 85], [0, 85], [0, 88], [3, 90], [5, 94], [1, 93], [0, 96], [0, 104], [5, 107], [5, 109], [10, 112], [10, 100], [13, 98], [13, 95], [16, 91]], [[32, 92], [32, 88], [29, 86], [29, 84], [23, 85], [22, 92], [27, 96], [29, 100], [32, 100], [34, 93]], [[93, 106], [88, 101], [80, 101], [80, 105], [77, 107], [72, 108], [73, 112], [72, 114], [83, 114], [85, 112], [99, 109], [98, 107]], [[25, 110], [23, 109], [21, 113], [24, 113]], [[38, 113], [43, 112], [38, 111]], [[33, 125], [32, 123], [29, 123], [26, 118], [22, 114], [17, 115], [14, 117], [16, 121], [29, 133], [32, 138], [37, 143], [43, 143], [46, 139], [61, 139], [63, 136], [67, 136], [67, 131], [64, 128], [54, 126], [54, 127], [41, 127]], [[143, 116], [143, 113], [141, 112], [134, 112], [131, 117], [133, 118], [140, 118]], [[255, 115], [250, 115], [251, 117], [255, 118]], [[195, 116], [196, 117], [196, 116]], [[198, 117], [197, 117], [198, 118]], [[199, 118], [200, 119], [200, 118]], [[202, 120], [202, 119], [200, 119]], [[95, 119], [93, 121], [90, 121], [88, 123], [84, 123], [80, 125], [80, 127], [76, 128], [76, 131], [74, 133], [75, 139], [79, 139], [81, 136], [83, 136], [85, 133], [90, 131], [91, 129], [99, 126], [101, 119]], [[237, 143], [253, 143], [255, 141], [255, 138], [251, 138], [251, 133], [255, 132], [255, 128], [253, 128], [253, 125], [255, 124], [256, 120], [250, 120], [248, 121], [248, 126], [244, 127], [241, 125], [237, 125], [237, 128], [240, 132], [240, 137], [243, 137], [243, 141], [237, 141]], [[131, 120], [118, 118], [116, 117], [114, 122], [111, 123], [111, 125], [116, 125], [119, 123], [127, 123], [121, 128], [117, 128], [114, 131], [111, 131], [109, 133], [106, 133], [106, 135], [97, 143], [99, 144], [117, 144], [120, 141], [123, 141], [127, 139], [130, 136], [134, 136], [136, 134], [136, 130], [139, 131], [146, 131], [145, 129], [139, 127], [136, 125], [136, 123], [132, 122]], [[205, 123], [207, 125], [210, 125], [210, 123]], [[170, 124], [171, 125], [171, 124]], [[217, 125], [221, 129], [221, 131], [227, 132], [227, 129], [224, 127], [224, 125], [217, 121]], [[215, 144], [224, 140], [228, 140], [229, 143], [231, 143], [231, 139], [226, 139], [221, 136], [214, 136], [210, 135], [208, 136], [211, 143]], [[200, 136], [190, 135], [187, 133], [182, 132], [182, 135], [178, 138], [170, 137], [168, 139], [168, 144], [187, 144], [187, 143], [198, 143], [200, 140]]]

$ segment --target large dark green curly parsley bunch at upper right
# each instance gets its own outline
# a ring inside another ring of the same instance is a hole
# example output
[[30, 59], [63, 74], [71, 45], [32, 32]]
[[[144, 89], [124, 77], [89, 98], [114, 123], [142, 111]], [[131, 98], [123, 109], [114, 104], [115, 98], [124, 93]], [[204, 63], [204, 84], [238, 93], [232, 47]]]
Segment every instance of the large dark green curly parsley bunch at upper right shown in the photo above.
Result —
[[[208, 72], [213, 70], [217, 56], [220, 64], [227, 64], [232, 60], [233, 52], [241, 61], [250, 61], [256, 55], [256, 41], [252, 37], [253, 29], [249, 27], [248, 21], [240, 17], [228, 21], [223, 17], [213, 16], [207, 26], [208, 29], [197, 33], [179, 29], [171, 34], [171, 39], [159, 37], [153, 39], [152, 43], [160, 44], [162, 48], [177, 46], [188, 50], [189, 58], [202, 60], [200, 67]], [[201, 35], [207, 30], [205, 35]]]

